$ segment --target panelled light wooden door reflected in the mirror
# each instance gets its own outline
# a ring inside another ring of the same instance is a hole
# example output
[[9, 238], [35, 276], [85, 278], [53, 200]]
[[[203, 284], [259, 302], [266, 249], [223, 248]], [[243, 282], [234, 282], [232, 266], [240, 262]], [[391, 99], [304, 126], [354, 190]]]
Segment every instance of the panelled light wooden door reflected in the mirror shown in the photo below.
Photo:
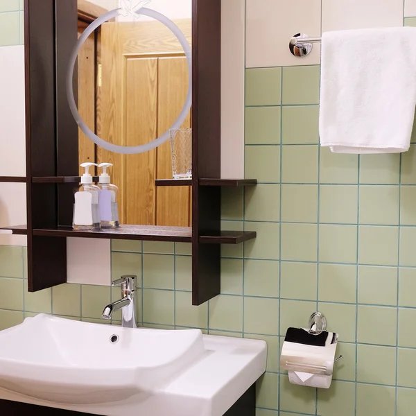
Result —
[[[191, 19], [175, 23], [191, 43]], [[138, 146], [162, 135], [180, 113], [189, 82], [187, 60], [171, 31], [157, 21], [103, 24], [100, 55], [98, 136]], [[190, 123], [189, 116], [182, 127]], [[191, 225], [190, 187], [155, 186], [156, 179], [172, 177], [169, 141], [139, 155], [97, 148], [97, 162], [114, 164], [121, 223]]]

